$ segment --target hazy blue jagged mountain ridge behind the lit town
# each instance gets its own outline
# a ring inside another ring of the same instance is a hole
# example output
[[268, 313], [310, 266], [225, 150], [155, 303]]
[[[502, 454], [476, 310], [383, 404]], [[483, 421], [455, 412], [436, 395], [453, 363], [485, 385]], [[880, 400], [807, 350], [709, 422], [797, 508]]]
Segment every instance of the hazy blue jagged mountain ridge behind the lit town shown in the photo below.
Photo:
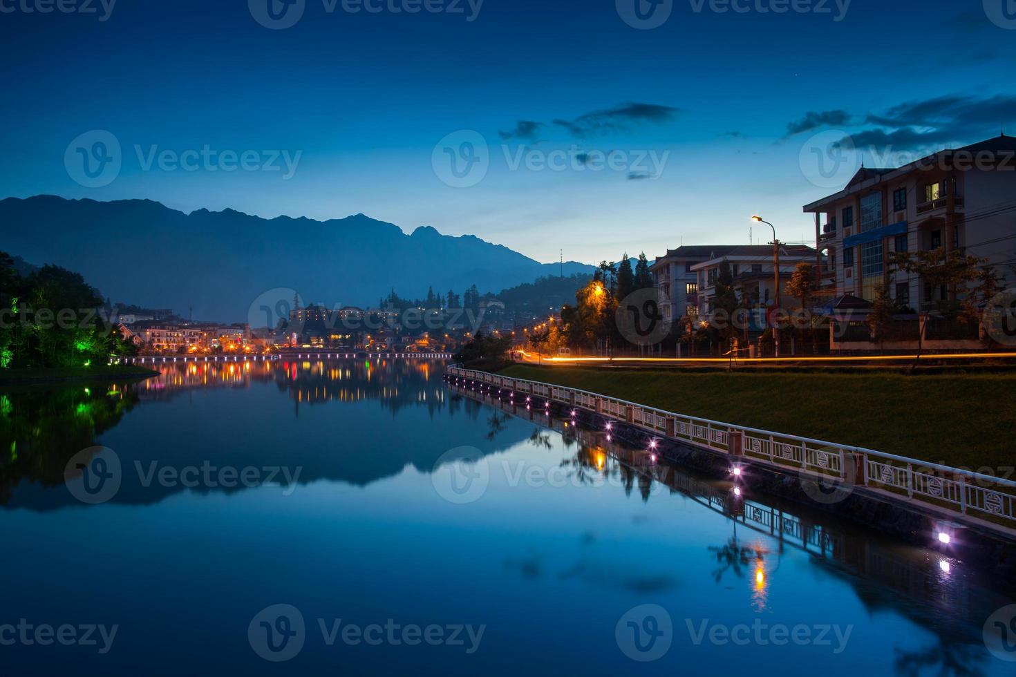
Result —
[[[152, 200], [98, 202], [39, 195], [0, 200], [0, 249], [84, 275], [114, 301], [172, 308], [184, 317], [243, 322], [262, 292], [287, 287], [307, 302], [371, 307], [470, 284], [482, 291], [561, 274], [474, 235], [427, 225], [405, 234], [364, 214], [317, 221], [265, 219], [234, 209], [186, 214]], [[564, 274], [593, 270], [576, 262]]]

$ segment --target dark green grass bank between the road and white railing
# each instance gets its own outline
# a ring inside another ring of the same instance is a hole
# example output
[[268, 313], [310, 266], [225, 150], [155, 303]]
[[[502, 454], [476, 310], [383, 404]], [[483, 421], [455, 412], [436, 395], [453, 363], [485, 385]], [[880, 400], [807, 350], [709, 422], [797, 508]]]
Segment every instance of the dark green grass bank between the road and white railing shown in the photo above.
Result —
[[1016, 374], [720, 373], [517, 364], [555, 383], [737, 425], [1005, 476], [1016, 465]]

